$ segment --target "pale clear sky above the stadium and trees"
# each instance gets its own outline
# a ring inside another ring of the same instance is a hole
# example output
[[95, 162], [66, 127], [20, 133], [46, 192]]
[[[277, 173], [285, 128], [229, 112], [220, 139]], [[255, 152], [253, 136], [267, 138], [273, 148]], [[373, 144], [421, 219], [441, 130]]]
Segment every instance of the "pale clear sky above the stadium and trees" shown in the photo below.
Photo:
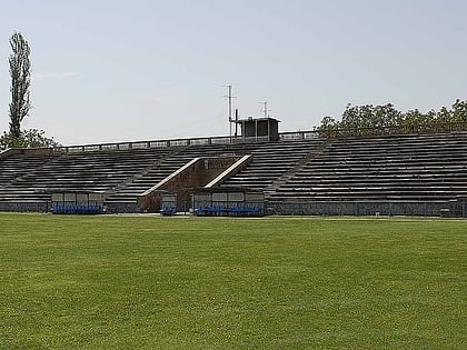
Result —
[[281, 131], [347, 103], [423, 111], [467, 98], [465, 0], [17, 0], [0, 6], [0, 130], [8, 43], [32, 53], [24, 128], [62, 144], [228, 134], [260, 101]]

